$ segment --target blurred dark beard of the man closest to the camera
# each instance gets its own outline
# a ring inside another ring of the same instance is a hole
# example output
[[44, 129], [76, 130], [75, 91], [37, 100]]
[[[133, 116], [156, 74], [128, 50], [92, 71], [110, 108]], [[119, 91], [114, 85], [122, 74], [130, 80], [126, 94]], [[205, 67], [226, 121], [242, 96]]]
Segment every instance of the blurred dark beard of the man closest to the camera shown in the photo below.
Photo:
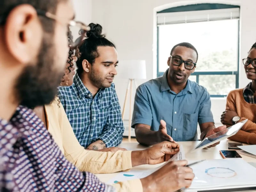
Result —
[[16, 81], [20, 105], [34, 109], [50, 104], [55, 98], [65, 66], [56, 69], [55, 52], [52, 36], [44, 37], [36, 63], [28, 65]]

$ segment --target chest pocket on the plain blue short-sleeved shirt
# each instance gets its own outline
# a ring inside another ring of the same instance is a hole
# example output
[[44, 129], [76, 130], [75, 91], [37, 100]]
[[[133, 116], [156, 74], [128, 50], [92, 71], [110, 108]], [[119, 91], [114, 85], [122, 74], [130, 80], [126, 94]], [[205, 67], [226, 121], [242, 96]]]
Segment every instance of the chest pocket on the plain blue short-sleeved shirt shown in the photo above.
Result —
[[198, 111], [193, 114], [183, 114], [183, 141], [196, 140]]

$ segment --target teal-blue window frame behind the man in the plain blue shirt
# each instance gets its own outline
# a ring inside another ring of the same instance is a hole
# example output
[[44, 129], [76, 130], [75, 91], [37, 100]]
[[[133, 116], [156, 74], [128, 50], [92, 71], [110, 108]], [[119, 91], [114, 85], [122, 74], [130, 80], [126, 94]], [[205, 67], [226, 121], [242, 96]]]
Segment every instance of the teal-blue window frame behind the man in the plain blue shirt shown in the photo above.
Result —
[[[209, 9], [209, 7], [207, 8], [207, 6], [202, 6], [204, 4], [197, 4], [198, 6], [196, 5], [187, 5], [187, 6], [180, 6], [180, 7], [173, 7], [173, 8], [170, 8], [170, 9], [166, 9], [166, 10], [163, 10], [161, 12], [182, 12], [182, 9], [185, 9], [185, 11], [198, 11], [198, 10], [207, 10]], [[209, 5], [209, 4], [206, 4], [206, 5]], [[214, 9], [216, 9], [216, 6], [220, 7], [220, 5], [222, 4], [213, 4], [213, 7], [215, 7]], [[224, 5], [224, 4], [223, 4]], [[189, 9], [189, 6], [192, 7], [192, 10]], [[227, 5], [224, 5], [224, 6], [227, 6]], [[231, 7], [233, 7], [233, 5], [230, 5]], [[184, 7], [184, 8], [183, 8]], [[239, 10], [240, 10], [240, 6], [237, 6], [239, 7]], [[179, 11], [175, 11], [175, 8], [178, 8]], [[205, 9], [204, 9], [205, 8]], [[161, 12], [157, 12], [157, 13], [161, 13]], [[236, 76], [236, 89], [239, 88], [239, 60], [240, 60], [240, 55], [239, 55], [239, 46], [240, 46], [240, 18], [238, 19], [238, 25], [237, 25], [237, 71], [195, 71], [193, 74], [191, 75], [194, 75], [196, 76], [196, 83], [200, 83], [199, 82], [199, 75], [235, 75]], [[160, 77], [160, 76], [163, 76], [164, 75], [164, 72], [160, 72], [159, 71], [159, 26], [157, 25], [157, 63], [156, 63], [156, 66], [157, 66], [157, 77]], [[221, 97], [227, 97], [227, 95], [210, 95], [211, 97], [217, 97], [217, 98], [221, 98]]]

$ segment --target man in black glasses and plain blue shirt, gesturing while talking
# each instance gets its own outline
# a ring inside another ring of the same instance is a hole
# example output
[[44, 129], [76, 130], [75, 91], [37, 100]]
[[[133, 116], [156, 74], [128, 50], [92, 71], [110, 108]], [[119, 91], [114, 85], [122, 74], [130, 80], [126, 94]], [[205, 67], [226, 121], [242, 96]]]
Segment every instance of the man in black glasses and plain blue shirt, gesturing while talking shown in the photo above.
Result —
[[192, 44], [177, 44], [171, 50], [164, 75], [138, 87], [132, 117], [138, 142], [154, 145], [166, 140], [196, 141], [197, 123], [201, 140], [226, 128], [215, 128], [210, 94], [188, 79], [196, 69], [197, 59]]

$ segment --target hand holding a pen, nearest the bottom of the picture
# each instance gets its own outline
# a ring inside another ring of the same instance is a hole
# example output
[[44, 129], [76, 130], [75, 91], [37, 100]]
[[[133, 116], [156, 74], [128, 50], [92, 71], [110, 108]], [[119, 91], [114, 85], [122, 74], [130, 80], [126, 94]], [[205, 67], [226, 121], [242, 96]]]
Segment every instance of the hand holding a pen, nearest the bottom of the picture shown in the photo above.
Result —
[[195, 177], [193, 170], [184, 167], [186, 160], [171, 161], [146, 178], [140, 179], [144, 192], [174, 192], [191, 186]]

